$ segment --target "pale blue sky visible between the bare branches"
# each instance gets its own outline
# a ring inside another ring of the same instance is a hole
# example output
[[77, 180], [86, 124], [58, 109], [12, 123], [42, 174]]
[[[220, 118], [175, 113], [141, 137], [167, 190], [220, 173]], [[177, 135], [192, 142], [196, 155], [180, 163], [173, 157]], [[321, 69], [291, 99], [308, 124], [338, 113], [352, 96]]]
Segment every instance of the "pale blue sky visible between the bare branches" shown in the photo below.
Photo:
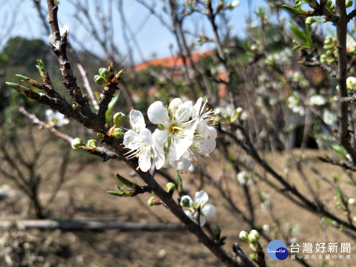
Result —
[[[106, 0], [102, 1], [104, 2], [103, 8], [106, 9]], [[152, 3], [153, 1], [154, 0], [146, 0], [148, 3]], [[229, 3], [230, 0], [227, 0], [226, 2]], [[160, 5], [160, 1], [156, 1], [156, 3]], [[255, 10], [258, 4], [263, 5], [264, 3], [261, 0], [253, 1], [251, 4], [252, 10]], [[47, 6], [45, 0], [42, 0], [42, 5], [43, 9], [46, 10]], [[75, 15], [75, 12], [72, 4], [70, 4], [67, 0], [60, 0], [58, 6], [59, 21], [63, 25], [68, 25], [69, 27], [69, 40], [71, 35], [75, 35], [84, 43], [84, 46], [87, 49], [97, 55], [103, 54], [103, 51], [99, 45], [93, 42], [92, 38], [90, 38], [90, 36], [83, 31], [82, 27], [80, 27], [78, 22], [74, 19], [73, 16]], [[89, 6], [91, 7], [90, 12], [93, 12], [93, 0], [89, 0]], [[14, 36], [23, 36], [30, 39], [41, 38], [46, 42], [50, 41], [50, 39], [46, 36], [45, 31], [43, 30], [41, 21], [37, 16], [37, 11], [32, 0], [0, 0], [0, 10], [4, 15], [2, 18], [0, 18], [0, 49], [4, 46], [6, 40], [9, 37]], [[132, 31], [139, 31], [136, 35], [136, 41], [142, 51], [143, 59], [147, 60], [151, 58], [153, 53], [155, 53], [158, 57], [169, 56], [170, 44], [173, 44], [173, 51], [177, 51], [174, 36], [167, 30], [166, 27], [162, 25], [162, 23], [156, 17], [150, 16], [150, 12], [145, 7], [143, 7], [135, 0], [123, 0], [123, 10], [126, 16], [126, 21], [129, 23]], [[114, 40], [119, 48], [119, 51], [124, 55], [126, 54], [126, 47], [122, 38], [121, 21], [116, 6], [112, 7], [112, 12], [114, 14], [114, 23], [116, 25]], [[244, 36], [243, 28], [248, 16], [247, 0], [241, 0], [240, 5], [233, 11], [228, 11], [227, 14], [231, 18], [231, 24], [234, 26], [232, 33], [234, 35]], [[6, 39], [4, 38], [4, 32], [6, 32], [6, 29], [9, 28], [10, 22], [12, 21], [14, 15], [16, 16], [16, 24], [14, 27], [11, 27], [11, 34], [7, 35]], [[144, 26], [142, 27], [142, 25]], [[194, 27], [197, 27], [199, 29], [198, 31], [204, 29], [206, 30], [207, 34], [210, 33], [210, 25], [208, 21], [201, 22], [197, 16], [195, 23], [184, 26], [189, 30], [191, 29], [192, 31], [194, 31]], [[133, 46], [132, 41], [131, 45]], [[198, 50], [206, 50], [213, 47], [214, 46], [211, 44], [204, 47], [198, 47]], [[79, 49], [79, 47], [76, 48]], [[134, 51], [134, 59], [136, 63], [142, 60], [136, 49]]]

